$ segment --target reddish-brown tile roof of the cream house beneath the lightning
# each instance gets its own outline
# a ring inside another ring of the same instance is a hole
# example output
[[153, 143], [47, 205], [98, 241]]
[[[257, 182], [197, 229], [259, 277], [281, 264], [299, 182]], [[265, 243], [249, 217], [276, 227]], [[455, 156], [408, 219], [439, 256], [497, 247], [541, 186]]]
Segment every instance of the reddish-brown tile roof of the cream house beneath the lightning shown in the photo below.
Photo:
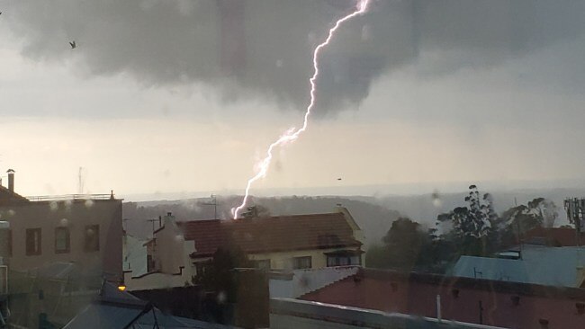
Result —
[[342, 213], [177, 223], [185, 240], [194, 240], [193, 257], [210, 256], [234, 243], [246, 253], [359, 247]]

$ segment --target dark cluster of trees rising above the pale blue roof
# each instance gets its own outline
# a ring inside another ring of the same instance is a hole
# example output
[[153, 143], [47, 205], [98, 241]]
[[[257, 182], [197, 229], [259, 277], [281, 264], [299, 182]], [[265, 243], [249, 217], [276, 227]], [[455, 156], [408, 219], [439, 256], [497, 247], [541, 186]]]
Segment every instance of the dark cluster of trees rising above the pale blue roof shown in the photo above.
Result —
[[476, 185], [469, 186], [464, 203], [438, 215], [430, 229], [398, 218], [382, 244], [370, 247], [366, 266], [444, 273], [461, 255], [490, 256], [518, 245], [531, 229], [554, 227], [559, 211], [552, 200], [536, 198], [498, 214], [491, 194]]

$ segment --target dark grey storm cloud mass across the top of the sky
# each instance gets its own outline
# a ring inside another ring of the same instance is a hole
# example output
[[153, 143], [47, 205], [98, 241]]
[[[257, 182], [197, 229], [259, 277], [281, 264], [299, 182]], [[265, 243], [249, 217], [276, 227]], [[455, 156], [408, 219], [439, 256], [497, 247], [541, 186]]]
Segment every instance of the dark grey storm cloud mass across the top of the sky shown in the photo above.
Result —
[[[142, 84], [202, 83], [225, 100], [267, 97], [304, 109], [312, 49], [350, 0], [4, 1], [23, 54], [83, 58], [97, 76]], [[455, 54], [427, 74], [497, 66], [585, 31], [585, 2], [376, 1], [323, 52], [317, 111], [361, 102], [376, 78], [424, 51]], [[67, 41], [76, 40], [77, 49]], [[444, 55], [450, 56], [450, 55]], [[445, 58], [444, 58], [445, 59]], [[448, 58], [446, 58], [448, 59]], [[446, 65], [446, 63], [448, 63]], [[560, 66], [563, 63], [559, 63]]]

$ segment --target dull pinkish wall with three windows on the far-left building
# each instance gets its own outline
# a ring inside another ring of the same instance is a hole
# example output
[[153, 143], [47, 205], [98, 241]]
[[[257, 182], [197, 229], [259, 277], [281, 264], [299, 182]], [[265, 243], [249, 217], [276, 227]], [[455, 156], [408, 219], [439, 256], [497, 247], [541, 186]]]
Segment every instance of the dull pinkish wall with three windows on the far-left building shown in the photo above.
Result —
[[[121, 280], [121, 200], [37, 201], [0, 206], [10, 222], [13, 271], [28, 271], [51, 262], [76, 262], [88, 276]], [[99, 251], [85, 252], [85, 226], [99, 225]], [[55, 228], [69, 228], [69, 252], [55, 253]], [[41, 253], [26, 254], [26, 229], [41, 229]]]

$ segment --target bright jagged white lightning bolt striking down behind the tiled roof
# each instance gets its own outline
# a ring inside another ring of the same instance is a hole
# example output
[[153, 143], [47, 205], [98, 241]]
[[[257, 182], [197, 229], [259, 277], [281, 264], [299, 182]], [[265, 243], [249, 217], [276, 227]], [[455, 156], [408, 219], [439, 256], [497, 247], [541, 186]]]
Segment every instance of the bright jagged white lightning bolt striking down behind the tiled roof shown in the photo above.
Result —
[[294, 140], [299, 138], [299, 136], [301, 136], [301, 134], [307, 129], [309, 117], [311, 116], [311, 110], [313, 109], [313, 106], [315, 106], [315, 90], [316, 90], [315, 81], [317, 80], [317, 76], [319, 76], [319, 60], [318, 59], [319, 59], [320, 50], [325, 48], [325, 46], [327, 46], [329, 44], [329, 41], [335, 35], [335, 31], [338, 31], [339, 26], [341, 26], [341, 24], [343, 24], [343, 22], [347, 22], [347, 21], [351, 20], [352, 18], [356, 17], [357, 15], [365, 13], [369, 2], [370, 2], [370, 0], [360, 0], [359, 3], [356, 5], [356, 10], [352, 13], [347, 14], [347, 16], [344, 16], [344, 17], [340, 18], [337, 22], [335, 22], [335, 25], [333, 25], [333, 27], [331, 29], [329, 29], [329, 34], [327, 36], [327, 39], [325, 39], [323, 42], [321, 42], [313, 51], [314, 72], [313, 72], [313, 76], [311, 76], [311, 79], [309, 79], [309, 82], [311, 83], [311, 102], [309, 102], [309, 106], [307, 106], [307, 110], [305, 111], [304, 120], [302, 122], [302, 128], [295, 129], [293, 127], [291, 129], [288, 129], [284, 132], [283, 135], [281, 135], [280, 138], [276, 139], [274, 143], [270, 144], [270, 147], [268, 147], [268, 149], [266, 150], [266, 157], [258, 165], [258, 170], [257, 170], [256, 175], [254, 175], [254, 177], [250, 178], [247, 181], [246, 192], [244, 194], [244, 200], [242, 200], [242, 203], [238, 206], [238, 208], [233, 210], [234, 219], [237, 219], [239, 211], [241, 209], [243, 209], [244, 207], [246, 207], [247, 199], [249, 198], [250, 189], [252, 188], [252, 184], [254, 182], [256, 182], [257, 180], [259, 180], [260, 178], [266, 177], [266, 172], [268, 171], [268, 167], [270, 167], [270, 163], [272, 162], [272, 157], [273, 157], [272, 152], [274, 151], [275, 147], [280, 147], [282, 145], [293, 142]]

